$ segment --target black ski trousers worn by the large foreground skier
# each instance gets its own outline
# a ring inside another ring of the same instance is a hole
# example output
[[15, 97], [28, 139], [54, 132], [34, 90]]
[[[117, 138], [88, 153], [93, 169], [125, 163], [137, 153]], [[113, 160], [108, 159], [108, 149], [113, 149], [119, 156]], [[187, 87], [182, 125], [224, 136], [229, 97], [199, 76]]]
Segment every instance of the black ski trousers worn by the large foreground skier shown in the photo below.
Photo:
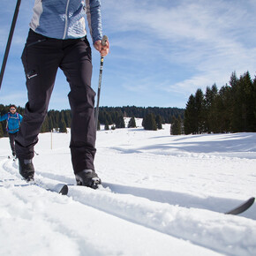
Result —
[[16, 138], [19, 159], [32, 159], [52, 93], [57, 69], [63, 70], [71, 91], [71, 154], [74, 173], [94, 169], [94, 90], [91, 88], [91, 48], [87, 38], [57, 40], [30, 29], [22, 63], [26, 73], [28, 102]]

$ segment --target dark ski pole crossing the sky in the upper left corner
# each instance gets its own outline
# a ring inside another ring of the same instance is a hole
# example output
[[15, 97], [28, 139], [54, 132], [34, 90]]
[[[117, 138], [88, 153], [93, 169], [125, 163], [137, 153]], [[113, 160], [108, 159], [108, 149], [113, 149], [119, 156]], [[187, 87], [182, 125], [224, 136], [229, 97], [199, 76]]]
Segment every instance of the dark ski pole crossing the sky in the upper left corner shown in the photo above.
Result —
[[12, 19], [12, 22], [11, 22], [10, 33], [9, 33], [8, 41], [7, 41], [5, 52], [4, 52], [4, 59], [3, 59], [2, 67], [1, 67], [1, 73], [0, 73], [0, 89], [1, 89], [1, 86], [2, 86], [3, 78], [4, 78], [5, 65], [6, 65], [7, 58], [8, 58], [8, 55], [9, 55], [9, 50], [10, 50], [10, 47], [11, 47], [11, 40], [12, 40], [12, 35], [13, 35], [13, 32], [14, 32], [14, 27], [16, 25], [16, 20], [18, 18], [18, 14], [19, 14], [20, 2], [21, 2], [21, 0], [17, 0], [16, 8], [15, 8], [13, 19]]

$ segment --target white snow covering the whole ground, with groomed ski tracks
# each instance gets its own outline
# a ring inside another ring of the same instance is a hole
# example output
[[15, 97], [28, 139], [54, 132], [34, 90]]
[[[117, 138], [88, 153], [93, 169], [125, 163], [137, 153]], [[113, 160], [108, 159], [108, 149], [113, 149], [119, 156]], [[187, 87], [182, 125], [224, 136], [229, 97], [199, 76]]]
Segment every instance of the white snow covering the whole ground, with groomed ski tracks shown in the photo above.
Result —
[[256, 203], [223, 215], [255, 196], [256, 133], [136, 123], [97, 132], [96, 191], [72, 185], [70, 132], [40, 134], [35, 179], [71, 184], [68, 196], [21, 180], [0, 139], [0, 255], [256, 255]]

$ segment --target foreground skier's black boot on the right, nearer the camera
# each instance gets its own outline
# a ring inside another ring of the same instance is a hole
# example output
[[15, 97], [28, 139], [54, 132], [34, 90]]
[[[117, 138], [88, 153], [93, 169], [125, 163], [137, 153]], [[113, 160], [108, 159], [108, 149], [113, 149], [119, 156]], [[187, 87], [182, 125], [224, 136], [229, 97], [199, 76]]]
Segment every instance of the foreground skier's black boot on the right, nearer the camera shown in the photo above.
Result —
[[101, 179], [93, 169], [84, 169], [75, 175], [78, 185], [85, 185], [97, 189], [102, 184]]

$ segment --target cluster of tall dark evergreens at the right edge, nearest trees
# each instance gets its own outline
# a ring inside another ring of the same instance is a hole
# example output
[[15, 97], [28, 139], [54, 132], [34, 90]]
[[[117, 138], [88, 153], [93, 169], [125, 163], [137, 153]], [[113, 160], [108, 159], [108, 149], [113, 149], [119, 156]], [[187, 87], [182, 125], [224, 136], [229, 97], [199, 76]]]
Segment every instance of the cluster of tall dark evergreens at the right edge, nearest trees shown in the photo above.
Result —
[[256, 132], [256, 77], [232, 72], [220, 90], [214, 84], [205, 94], [191, 94], [184, 110], [184, 134]]

